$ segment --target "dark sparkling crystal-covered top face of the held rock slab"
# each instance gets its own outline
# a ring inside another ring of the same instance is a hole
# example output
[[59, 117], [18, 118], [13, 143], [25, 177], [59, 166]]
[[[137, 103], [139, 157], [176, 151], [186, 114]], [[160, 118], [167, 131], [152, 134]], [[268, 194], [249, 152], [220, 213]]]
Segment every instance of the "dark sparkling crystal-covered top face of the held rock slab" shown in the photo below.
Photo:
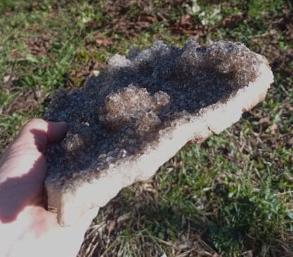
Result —
[[127, 57], [116, 54], [84, 89], [56, 92], [45, 118], [66, 121], [68, 134], [46, 152], [47, 180], [76, 179], [142, 153], [175, 118], [253, 82], [258, 65], [243, 44], [223, 41], [204, 47], [189, 40], [182, 49], [158, 41]]

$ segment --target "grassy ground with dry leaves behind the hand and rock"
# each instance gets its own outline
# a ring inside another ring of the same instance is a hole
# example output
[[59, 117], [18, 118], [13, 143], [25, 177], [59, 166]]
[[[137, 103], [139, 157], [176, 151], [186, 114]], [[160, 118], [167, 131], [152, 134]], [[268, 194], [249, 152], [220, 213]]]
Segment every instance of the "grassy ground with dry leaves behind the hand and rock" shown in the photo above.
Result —
[[292, 256], [292, 9], [289, 0], [0, 0], [0, 154], [55, 89], [81, 87], [132, 44], [243, 42], [273, 68], [266, 101], [123, 189], [80, 256]]

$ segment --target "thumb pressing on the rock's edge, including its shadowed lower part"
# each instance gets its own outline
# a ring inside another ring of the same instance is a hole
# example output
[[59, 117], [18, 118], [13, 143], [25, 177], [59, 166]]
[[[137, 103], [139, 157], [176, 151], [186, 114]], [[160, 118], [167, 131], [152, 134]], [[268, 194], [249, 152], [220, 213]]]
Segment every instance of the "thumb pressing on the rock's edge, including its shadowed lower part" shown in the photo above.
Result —
[[25, 206], [42, 201], [46, 175], [44, 149], [61, 140], [66, 123], [28, 122], [0, 160], [0, 221], [11, 222]]

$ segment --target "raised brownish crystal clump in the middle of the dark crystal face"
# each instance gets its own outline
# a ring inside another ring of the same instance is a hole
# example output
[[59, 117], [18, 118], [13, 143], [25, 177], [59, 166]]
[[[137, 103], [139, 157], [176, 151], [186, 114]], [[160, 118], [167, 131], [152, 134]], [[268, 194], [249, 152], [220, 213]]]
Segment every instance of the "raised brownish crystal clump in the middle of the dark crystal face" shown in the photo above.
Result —
[[129, 125], [131, 120], [136, 120], [135, 131], [143, 135], [154, 131], [161, 123], [156, 113], [168, 104], [169, 99], [170, 96], [165, 92], [158, 91], [151, 96], [145, 88], [130, 84], [106, 96], [99, 120], [104, 127], [112, 130], [119, 130]]

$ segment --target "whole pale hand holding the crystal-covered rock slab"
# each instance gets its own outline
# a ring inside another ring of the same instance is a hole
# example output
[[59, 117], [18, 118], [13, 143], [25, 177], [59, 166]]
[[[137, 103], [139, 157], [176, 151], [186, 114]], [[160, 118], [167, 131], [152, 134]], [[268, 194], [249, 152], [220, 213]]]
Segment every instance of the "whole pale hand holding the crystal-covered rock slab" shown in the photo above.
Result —
[[30, 120], [0, 160], [0, 256], [76, 256], [96, 210], [61, 227], [44, 208], [46, 147], [60, 142], [66, 123]]

